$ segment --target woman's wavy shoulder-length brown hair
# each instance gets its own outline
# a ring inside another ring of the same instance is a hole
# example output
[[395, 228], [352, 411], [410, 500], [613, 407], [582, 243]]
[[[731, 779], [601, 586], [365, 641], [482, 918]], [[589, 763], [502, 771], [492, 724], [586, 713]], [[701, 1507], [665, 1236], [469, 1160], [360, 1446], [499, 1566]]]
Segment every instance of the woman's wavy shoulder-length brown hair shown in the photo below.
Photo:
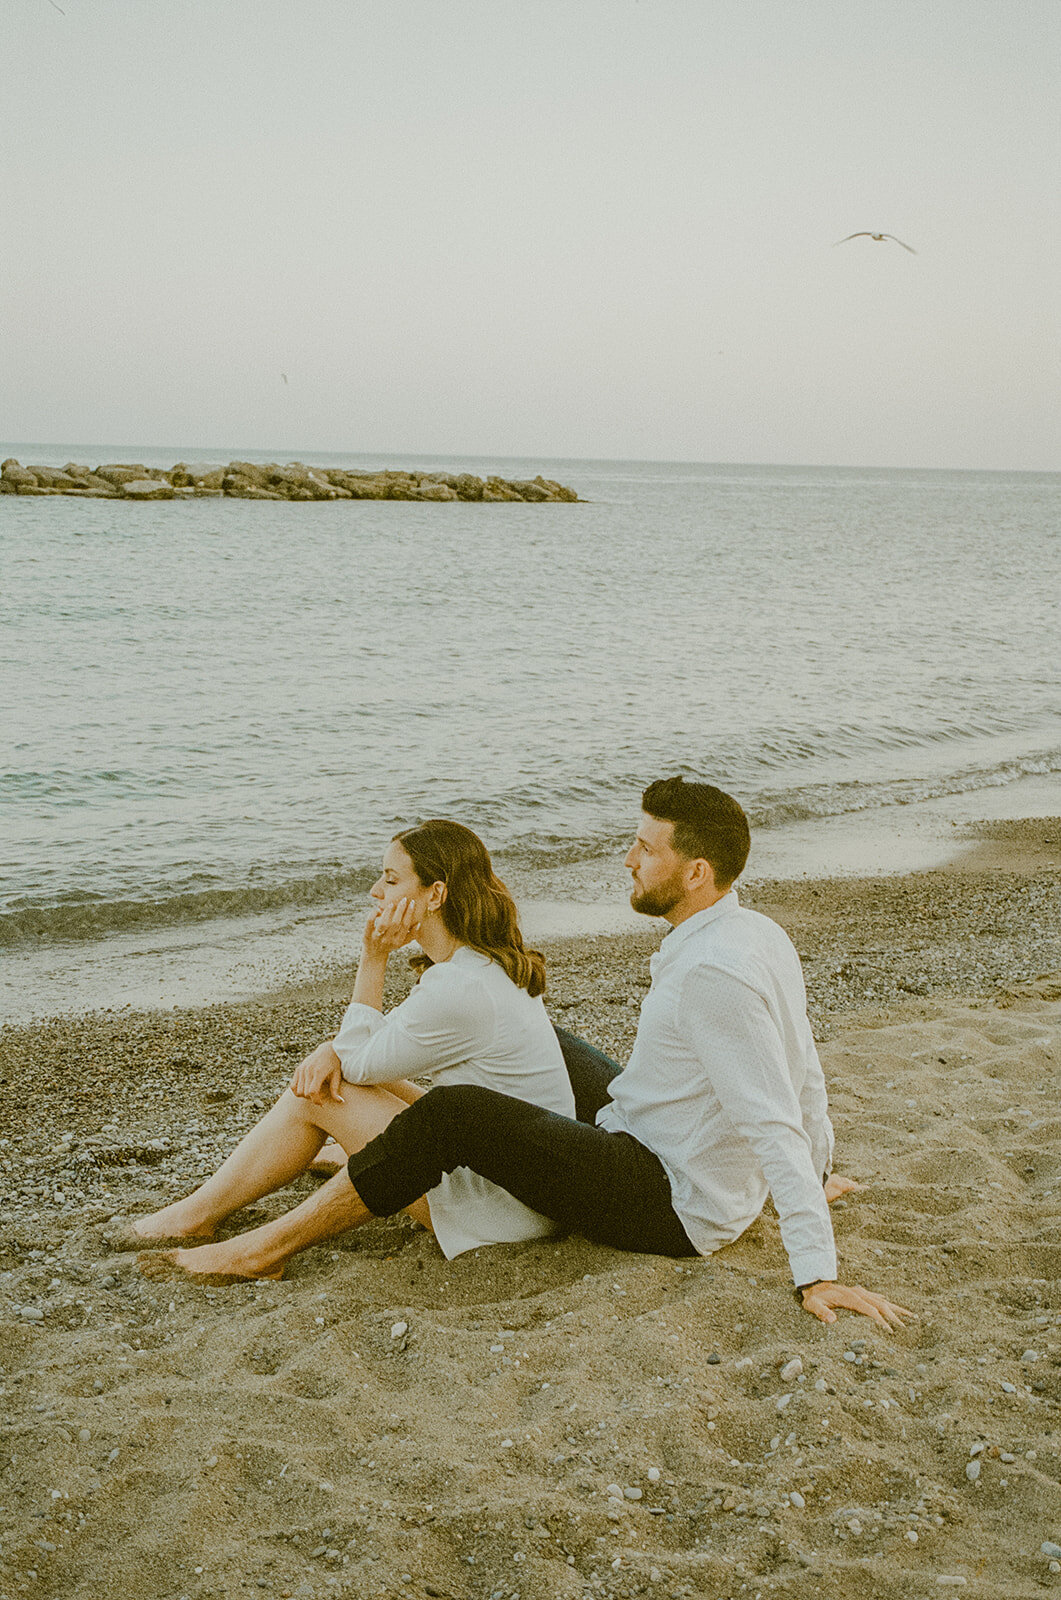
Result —
[[[406, 827], [394, 838], [424, 888], [445, 883], [446, 896], [438, 915], [446, 933], [488, 955], [530, 995], [544, 994], [546, 958], [539, 950], [523, 947], [515, 901], [493, 870], [482, 838], [470, 827], [446, 818]], [[418, 958], [414, 965], [429, 963]]]

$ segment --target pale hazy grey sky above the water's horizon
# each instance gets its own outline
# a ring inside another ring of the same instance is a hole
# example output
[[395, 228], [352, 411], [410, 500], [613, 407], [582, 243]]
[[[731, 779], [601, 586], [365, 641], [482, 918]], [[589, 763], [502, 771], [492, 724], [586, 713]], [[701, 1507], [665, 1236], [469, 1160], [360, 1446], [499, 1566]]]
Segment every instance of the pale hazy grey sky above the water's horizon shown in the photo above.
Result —
[[0, 14], [2, 438], [1061, 469], [1058, 0]]

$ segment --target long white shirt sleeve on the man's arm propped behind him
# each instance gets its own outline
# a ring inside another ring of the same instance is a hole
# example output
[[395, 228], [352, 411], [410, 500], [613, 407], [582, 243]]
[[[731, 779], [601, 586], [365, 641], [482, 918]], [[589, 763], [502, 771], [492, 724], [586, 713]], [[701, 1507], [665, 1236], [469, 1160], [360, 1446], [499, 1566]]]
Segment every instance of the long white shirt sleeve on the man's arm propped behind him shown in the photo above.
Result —
[[803, 1126], [784, 1042], [763, 997], [739, 978], [696, 966], [682, 986], [682, 1030], [733, 1128], [755, 1152], [778, 1210], [795, 1283], [835, 1278], [823, 1174]]

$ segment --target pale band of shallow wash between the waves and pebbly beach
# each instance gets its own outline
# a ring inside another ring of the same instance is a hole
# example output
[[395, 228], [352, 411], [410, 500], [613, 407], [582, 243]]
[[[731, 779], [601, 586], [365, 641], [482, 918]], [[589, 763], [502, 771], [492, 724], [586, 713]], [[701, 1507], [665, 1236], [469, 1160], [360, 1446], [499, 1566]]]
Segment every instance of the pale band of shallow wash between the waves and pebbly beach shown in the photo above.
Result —
[[[973, 848], [983, 858], [978, 830], [984, 824], [1048, 816], [1056, 805], [1053, 779], [1024, 778], [917, 805], [755, 829], [743, 893], [755, 894], [771, 880], [848, 882], [944, 870]], [[1005, 861], [1013, 859], [1010, 851]], [[536, 942], [645, 928], [645, 918], [629, 909], [623, 851], [563, 866], [530, 867], [504, 856], [498, 862], [520, 902], [526, 936]], [[995, 864], [1003, 864], [1002, 856]], [[360, 941], [368, 878], [368, 872], [349, 874], [338, 898], [328, 898], [323, 878], [314, 880], [320, 882], [317, 904], [149, 923], [98, 941], [8, 946], [0, 950], [0, 1022], [114, 1006], [246, 1000], [331, 970], [346, 971]]]

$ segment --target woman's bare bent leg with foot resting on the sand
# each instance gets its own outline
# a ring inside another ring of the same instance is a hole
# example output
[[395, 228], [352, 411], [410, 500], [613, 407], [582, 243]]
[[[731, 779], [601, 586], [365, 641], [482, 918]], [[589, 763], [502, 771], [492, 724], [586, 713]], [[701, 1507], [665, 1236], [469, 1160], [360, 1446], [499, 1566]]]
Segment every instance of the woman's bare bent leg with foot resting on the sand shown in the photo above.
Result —
[[[408, 1101], [389, 1086], [346, 1083], [344, 1101], [314, 1106], [285, 1090], [277, 1104], [246, 1133], [213, 1178], [173, 1205], [133, 1222], [133, 1234], [152, 1238], [213, 1238], [218, 1222], [232, 1211], [283, 1189], [306, 1171], [331, 1134], [352, 1155], [405, 1110]], [[413, 1088], [413, 1085], [410, 1085]], [[426, 1213], [426, 1206], [422, 1208]], [[419, 1206], [410, 1206], [416, 1221], [429, 1226]]]

